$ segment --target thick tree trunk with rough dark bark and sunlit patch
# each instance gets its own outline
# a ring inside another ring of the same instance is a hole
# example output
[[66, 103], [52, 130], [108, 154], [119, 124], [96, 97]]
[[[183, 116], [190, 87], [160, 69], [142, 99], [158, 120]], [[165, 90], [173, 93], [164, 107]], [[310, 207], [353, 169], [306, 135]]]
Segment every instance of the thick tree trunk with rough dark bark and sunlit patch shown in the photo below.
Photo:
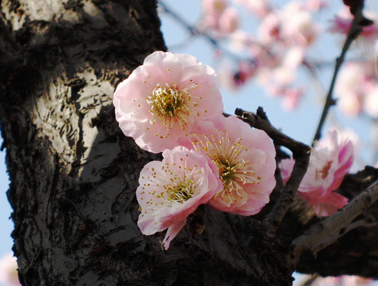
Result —
[[[0, 3], [0, 123], [22, 285], [292, 284], [291, 243], [306, 227], [289, 214], [272, 236], [261, 223], [282, 184], [255, 217], [199, 209], [168, 251], [164, 233], [137, 227], [139, 172], [161, 156], [122, 134], [112, 96], [148, 54], [166, 50], [156, 0]], [[325, 249], [318, 260], [304, 255], [298, 269], [377, 277], [377, 235], [350, 234], [332, 248], [332, 267]], [[357, 240], [348, 237], [375, 241], [354, 248], [370, 272], [351, 270], [355, 252], [342, 248]], [[340, 253], [350, 259], [336, 261]]]

